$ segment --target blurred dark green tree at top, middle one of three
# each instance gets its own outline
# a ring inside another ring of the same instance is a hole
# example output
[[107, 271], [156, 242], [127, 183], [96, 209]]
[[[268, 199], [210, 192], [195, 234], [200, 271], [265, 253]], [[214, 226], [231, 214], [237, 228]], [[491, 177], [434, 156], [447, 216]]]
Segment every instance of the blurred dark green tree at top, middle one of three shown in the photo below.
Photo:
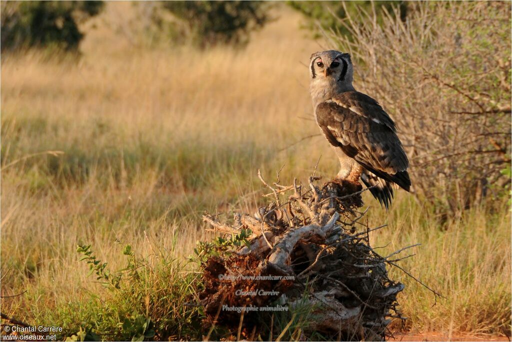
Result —
[[262, 1], [170, 1], [163, 7], [178, 19], [173, 41], [188, 40], [201, 48], [245, 45], [249, 33], [268, 21], [270, 4]]

